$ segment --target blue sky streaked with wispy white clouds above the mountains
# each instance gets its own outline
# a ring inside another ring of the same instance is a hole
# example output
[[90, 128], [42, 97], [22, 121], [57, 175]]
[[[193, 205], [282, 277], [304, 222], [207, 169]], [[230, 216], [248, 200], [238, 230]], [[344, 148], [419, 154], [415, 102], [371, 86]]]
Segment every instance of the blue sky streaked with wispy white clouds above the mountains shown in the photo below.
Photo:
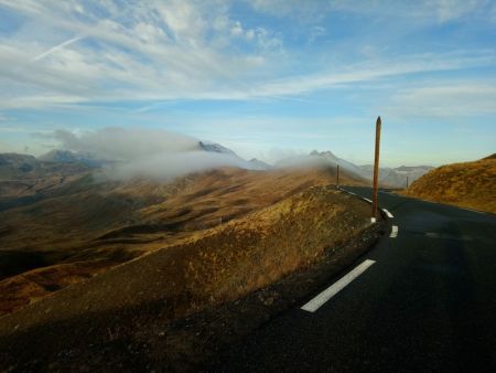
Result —
[[496, 152], [493, 0], [0, 0], [0, 152], [109, 127], [274, 162]]

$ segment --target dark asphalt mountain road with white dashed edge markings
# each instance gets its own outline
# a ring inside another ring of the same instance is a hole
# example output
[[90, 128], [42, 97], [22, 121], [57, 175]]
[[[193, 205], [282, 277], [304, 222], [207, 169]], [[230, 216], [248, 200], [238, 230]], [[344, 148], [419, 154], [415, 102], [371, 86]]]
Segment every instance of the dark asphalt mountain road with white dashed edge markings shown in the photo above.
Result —
[[312, 295], [273, 319], [213, 370], [496, 372], [496, 216], [388, 192], [379, 204], [398, 236], [356, 263], [374, 265], [315, 312], [300, 308]]

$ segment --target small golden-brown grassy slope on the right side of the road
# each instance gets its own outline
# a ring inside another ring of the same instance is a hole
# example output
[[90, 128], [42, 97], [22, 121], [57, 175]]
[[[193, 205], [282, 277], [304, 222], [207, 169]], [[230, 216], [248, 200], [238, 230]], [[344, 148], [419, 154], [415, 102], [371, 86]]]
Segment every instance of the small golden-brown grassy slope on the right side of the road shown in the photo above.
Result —
[[434, 169], [406, 194], [496, 214], [496, 154]]

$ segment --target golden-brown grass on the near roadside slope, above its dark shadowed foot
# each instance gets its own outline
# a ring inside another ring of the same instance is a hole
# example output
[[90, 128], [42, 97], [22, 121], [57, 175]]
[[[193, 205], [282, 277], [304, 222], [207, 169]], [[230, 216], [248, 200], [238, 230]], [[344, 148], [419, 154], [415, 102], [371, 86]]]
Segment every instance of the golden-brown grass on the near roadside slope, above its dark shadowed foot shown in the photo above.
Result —
[[313, 264], [368, 227], [368, 214], [333, 186], [310, 188], [34, 302], [3, 318], [0, 334], [154, 303], [174, 319], [233, 300]]

